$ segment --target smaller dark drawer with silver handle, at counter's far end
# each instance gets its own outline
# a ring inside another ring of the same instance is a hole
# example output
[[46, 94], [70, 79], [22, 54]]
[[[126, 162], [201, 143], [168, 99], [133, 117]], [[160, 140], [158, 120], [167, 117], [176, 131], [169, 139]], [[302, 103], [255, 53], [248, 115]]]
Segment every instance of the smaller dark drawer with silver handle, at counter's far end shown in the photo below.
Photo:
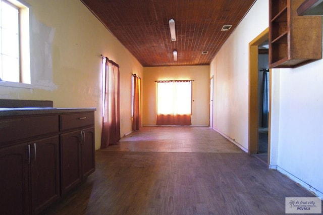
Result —
[[61, 131], [91, 125], [94, 125], [94, 112], [61, 115]]

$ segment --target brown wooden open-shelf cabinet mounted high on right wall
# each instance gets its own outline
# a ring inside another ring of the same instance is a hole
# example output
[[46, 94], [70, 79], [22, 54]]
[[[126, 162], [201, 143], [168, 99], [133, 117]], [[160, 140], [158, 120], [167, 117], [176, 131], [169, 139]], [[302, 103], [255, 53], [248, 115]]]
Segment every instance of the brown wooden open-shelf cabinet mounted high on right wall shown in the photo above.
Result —
[[322, 59], [322, 18], [298, 16], [302, 3], [269, 1], [270, 68], [293, 68]]

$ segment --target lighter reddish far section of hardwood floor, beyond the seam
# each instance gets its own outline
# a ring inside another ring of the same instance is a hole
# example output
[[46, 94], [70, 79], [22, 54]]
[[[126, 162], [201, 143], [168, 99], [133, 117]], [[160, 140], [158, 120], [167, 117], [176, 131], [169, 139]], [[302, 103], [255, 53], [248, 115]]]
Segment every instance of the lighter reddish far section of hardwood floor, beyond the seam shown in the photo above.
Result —
[[207, 127], [143, 127], [109, 146], [109, 151], [232, 152], [243, 151]]

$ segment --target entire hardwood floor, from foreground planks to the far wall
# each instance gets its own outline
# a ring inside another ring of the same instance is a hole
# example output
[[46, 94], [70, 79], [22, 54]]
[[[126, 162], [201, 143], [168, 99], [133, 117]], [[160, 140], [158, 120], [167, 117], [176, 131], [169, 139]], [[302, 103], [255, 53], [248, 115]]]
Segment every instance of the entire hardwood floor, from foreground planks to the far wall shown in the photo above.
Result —
[[207, 127], [143, 127], [43, 214], [284, 214], [314, 195]]

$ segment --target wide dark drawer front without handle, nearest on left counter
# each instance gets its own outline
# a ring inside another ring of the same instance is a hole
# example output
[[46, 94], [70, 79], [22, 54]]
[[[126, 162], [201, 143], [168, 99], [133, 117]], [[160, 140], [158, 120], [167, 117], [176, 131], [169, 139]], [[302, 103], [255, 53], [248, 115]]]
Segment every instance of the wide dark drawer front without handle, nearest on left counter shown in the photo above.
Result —
[[0, 120], [0, 143], [12, 142], [53, 132], [59, 132], [58, 115]]

